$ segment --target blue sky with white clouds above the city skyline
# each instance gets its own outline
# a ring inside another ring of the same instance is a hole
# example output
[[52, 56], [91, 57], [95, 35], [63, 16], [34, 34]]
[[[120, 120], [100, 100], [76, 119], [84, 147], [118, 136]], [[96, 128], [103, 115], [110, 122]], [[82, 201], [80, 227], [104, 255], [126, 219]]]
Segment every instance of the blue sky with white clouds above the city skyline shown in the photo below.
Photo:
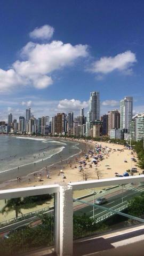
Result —
[[87, 110], [99, 91], [101, 114], [126, 95], [144, 111], [143, 1], [1, 0], [0, 120], [31, 107], [36, 117]]

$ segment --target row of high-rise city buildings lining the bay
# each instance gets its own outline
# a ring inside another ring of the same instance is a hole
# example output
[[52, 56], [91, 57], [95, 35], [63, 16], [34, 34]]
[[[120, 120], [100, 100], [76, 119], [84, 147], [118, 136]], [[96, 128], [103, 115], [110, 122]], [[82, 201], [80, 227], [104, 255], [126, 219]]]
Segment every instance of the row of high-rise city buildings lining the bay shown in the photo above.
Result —
[[[19, 122], [14, 119], [12, 113], [8, 115], [7, 124], [0, 123], [0, 133], [15, 134], [38, 134], [38, 135], [66, 135], [76, 137], [98, 138], [107, 135], [110, 139], [126, 139], [131, 134], [133, 138], [136, 135], [137, 121], [140, 120], [141, 134], [143, 133], [143, 124], [141, 119], [132, 119], [133, 116], [133, 97], [126, 96], [119, 101], [119, 110], [113, 109], [105, 115], [100, 114], [100, 92], [90, 92], [89, 111], [85, 116], [85, 109], [79, 109], [79, 115], [75, 116], [73, 111], [65, 113], [55, 113], [54, 116], [35, 117], [31, 113], [31, 108], [27, 108], [25, 116], [19, 117]], [[143, 117], [142, 117], [143, 118]], [[143, 122], [143, 121], [142, 121]], [[134, 127], [132, 129], [132, 126]], [[139, 138], [141, 138], [141, 134]]]

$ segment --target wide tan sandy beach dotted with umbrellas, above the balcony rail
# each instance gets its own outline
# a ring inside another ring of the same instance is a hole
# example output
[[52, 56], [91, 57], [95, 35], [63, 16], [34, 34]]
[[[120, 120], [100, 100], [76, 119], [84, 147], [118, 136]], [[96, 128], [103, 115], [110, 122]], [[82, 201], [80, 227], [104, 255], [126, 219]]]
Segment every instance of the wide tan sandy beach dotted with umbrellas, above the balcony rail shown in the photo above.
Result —
[[[75, 141], [85, 143], [85, 150], [83, 150], [81, 154], [71, 157], [71, 159], [69, 159], [68, 161], [61, 161], [55, 166], [53, 165], [52, 167], [50, 167], [49, 170], [44, 167], [37, 172], [36, 176], [34, 174], [28, 175], [20, 182], [5, 182], [4, 188], [50, 185], [54, 183], [68, 183], [70, 181], [83, 181], [83, 174], [78, 170], [79, 161], [85, 159], [84, 155], [87, 153], [87, 151], [90, 149], [94, 149], [95, 145], [98, 145], [99, 143], [101, 144], [102, 148], [107, 147], [110, 149], [110, 151], [108, 154], [103, 155], [103, 160], [98, 162], [97, 166], [92, 163], [92, 167], [90, 167], [89, 164], [91, 163], [91, 158], [89, 158], [89, 160], [86, 160], [87, 164], [86, 166], [84, 166], [84, 172], [87, 173], [87, 180], [98, 179], [95, 167], [97, 167], [97, 170], [99, 171], [99, 179], [114, 178], [115, 173], [123, 175], [126, 170], [130, 169], [130, 150], [126, 149], [123, 145], [95, 141], [85, 142], [84, 140]], [[123, 151], [118, 151], [117, 149]], [[132, 156], [137, 159], [136, 154], [133, 154]], [[142, 170], [138, 168], [137, 162], [135, 163], [132, 161], [132, 167], [137, 167], [137, 175], [142, 172]], [[61, 173], [60, 170], [62, 170], [63, 173]], [[47, 173], [50, 175], [50, 178], [48, 179]], [[63, 179], [63, 177], [66, 178]]]

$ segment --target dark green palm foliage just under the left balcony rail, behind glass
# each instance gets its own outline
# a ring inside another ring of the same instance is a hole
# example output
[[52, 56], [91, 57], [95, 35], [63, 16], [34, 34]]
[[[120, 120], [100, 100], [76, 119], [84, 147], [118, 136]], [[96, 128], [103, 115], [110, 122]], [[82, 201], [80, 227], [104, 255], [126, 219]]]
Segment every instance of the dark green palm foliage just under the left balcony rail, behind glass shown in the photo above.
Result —
[[15, 211], [15, 217], [17, 218], [18, 214], [22, 214], [21, 209], [30, 209], [37, 205], [43, 205], [51, 198], [52, 195], [47, 194], [6, 199], [5, 206], [1, 210], [1, 213], [9, 214], [10, 212]]

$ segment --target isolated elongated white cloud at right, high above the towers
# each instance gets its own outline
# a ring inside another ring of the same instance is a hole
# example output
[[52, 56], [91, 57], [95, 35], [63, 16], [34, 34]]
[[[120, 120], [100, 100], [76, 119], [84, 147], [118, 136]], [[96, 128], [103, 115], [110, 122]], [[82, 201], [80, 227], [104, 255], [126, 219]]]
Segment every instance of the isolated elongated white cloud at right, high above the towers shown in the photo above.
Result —
[[108, 74], [114, 70], [123, 71], [125, 74], [132, 72], [131, 67], [137, 62], [135, 54], [131, 51], [126, 51], [117, 54], [115, 57], [102, 57], [92, 63], [90, 71], [92, 73]]

